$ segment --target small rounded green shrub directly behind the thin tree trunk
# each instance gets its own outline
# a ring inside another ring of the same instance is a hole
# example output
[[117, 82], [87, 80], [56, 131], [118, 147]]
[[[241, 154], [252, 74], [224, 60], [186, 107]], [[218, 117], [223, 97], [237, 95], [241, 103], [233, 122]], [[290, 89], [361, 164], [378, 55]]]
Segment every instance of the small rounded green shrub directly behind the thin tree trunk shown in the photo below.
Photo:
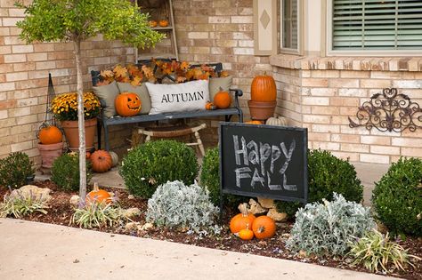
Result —
[[[91, 180], [91, 164], [86, 161], [86, 181]], [[79, 156], [75, 154], [64, 154], [59, 156], [52, 167], [52, 180], [57, 187], [65, 190], [79, 189]]]

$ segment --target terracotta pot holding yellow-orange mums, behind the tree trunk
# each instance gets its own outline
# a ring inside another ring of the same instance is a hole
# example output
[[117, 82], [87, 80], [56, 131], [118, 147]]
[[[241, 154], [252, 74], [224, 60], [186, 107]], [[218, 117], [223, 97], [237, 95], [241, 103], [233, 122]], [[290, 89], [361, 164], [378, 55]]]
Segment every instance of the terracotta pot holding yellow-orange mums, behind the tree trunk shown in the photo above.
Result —
[[[85, 120], [85, 148], [86, 150], [93, 149], [93, 139], [95, 136], [95, 128], [97, 126], [97, 119], [92, 118]], [[77, 121], [62, 121], [61, 127], [64, 131], [64, 136], [68, 141], [69, 149], [77, 151], [79, 149], [79, 132], [77, 128]]]

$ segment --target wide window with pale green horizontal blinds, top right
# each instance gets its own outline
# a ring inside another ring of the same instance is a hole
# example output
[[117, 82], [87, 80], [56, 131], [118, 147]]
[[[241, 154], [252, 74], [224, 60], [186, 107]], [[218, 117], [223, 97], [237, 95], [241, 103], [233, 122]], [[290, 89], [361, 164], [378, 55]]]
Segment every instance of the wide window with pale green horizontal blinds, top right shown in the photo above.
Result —
[[332, 51], [422, 50], [422, 1], [329, 1]]

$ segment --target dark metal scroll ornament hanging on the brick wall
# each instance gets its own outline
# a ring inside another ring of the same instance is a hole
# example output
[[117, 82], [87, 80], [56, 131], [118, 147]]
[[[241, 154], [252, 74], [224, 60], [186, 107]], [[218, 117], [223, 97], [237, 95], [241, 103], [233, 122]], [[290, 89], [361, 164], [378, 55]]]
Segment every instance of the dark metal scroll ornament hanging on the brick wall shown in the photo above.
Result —
[[415, 132], [422, 128], [422, 109], [410, 101], [406, 94], [397, 94], [397, 89], [384, 89], [375, 93], [369, 101], [363, 102], [356, 113], [357, 123], [349, 117], [350, 127], [373, 127], [380, 132], [402, 132], [409, 128]]

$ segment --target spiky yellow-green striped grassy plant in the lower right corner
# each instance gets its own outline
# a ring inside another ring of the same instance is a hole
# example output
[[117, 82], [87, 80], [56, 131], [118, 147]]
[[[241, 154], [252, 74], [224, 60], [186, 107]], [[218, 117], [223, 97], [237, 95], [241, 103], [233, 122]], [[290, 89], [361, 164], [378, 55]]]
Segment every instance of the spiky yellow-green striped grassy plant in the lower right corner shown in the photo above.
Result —
[[351, 247], [352, 249], [347, 255], [354, 259], [353, 264], [363, 264], [372, 272], [378, 272], [379, 269], [385, 274], [396, 269], [404, 271], [407, 265], [415, 268], [410, 258], [422, 260], [417, 256], [410, 255], [408, 250], [404, 250], [400, 244], [390, 241], [388, 233], [384, 236], [377, 229], [358, 238], [355, 243], [351, 244]]

